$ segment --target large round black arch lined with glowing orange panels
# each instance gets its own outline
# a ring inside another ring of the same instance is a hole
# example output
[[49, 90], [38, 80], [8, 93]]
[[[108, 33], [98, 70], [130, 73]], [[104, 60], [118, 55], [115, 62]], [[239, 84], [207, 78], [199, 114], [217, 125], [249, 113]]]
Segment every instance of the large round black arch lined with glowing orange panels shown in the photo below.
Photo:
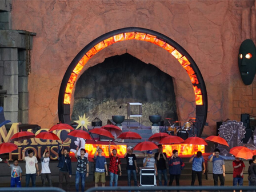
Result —
[[61, 88], [59, 90], [59, 121], [63, 123], [71, 122], [71, 94], [78, 74], [83, 69], [83, 66], [85, 66], [86, 62], [89, 61], [93, 55], [106, 48], [107, 46], [130, 39], [154, 43], [155, 45], [158, 45], [164, 50], [168, 51], [178, 60], [179, 63], [181, 63], [182, 67], [189, 75], [193, 85], [196, 105], [195, 126], [197, 129], [199, 129], [198, 136], [201, 137], [207, 117], [207, 92], [201, 72], [199, 71], [194, 60], [190, 57], [189, 53], [187, 53], [187, 51], [183, 49], [177, 42], [173, 41], [173, 39], [170, 39], [169, 37], [156, 31], [139, 27], [127, 27], [103, 34], [97, 39], [94, 39], [94, 41], [90, 42], [77, 54], [77, 56], [70, 63], [70, 66], [67, 68], [66, 73], [62, 79]]

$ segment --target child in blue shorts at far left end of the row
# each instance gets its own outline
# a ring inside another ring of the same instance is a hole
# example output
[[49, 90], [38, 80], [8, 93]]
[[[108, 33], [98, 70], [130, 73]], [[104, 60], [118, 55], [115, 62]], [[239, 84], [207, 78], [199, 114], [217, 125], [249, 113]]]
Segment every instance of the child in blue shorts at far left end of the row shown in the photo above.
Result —
[[11, 168], [11, 187], [21, 187], [21, 179], [22, 179], [22, 170], [21, 167], [18, 166], [18, 159], [14, 159], [13, 165], [10, 165], [9, 159], [6, 159], [7, 165]]

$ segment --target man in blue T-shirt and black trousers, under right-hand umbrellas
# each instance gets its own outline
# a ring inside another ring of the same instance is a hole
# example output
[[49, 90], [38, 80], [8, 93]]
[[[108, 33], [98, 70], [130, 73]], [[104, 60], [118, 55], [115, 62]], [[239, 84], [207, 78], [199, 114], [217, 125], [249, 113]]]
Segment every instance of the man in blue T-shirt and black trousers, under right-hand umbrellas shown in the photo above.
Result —
[[[192, 163], [192, 181], [191, 186], [194, 186], [195, 184], [195, 177], [198, 178], [198, 184], [199, 186], [202, 186], [202, 174], [205, 173], [205, 159], [202, 157], [202, 152], [197, 151], [197, 155], [193, 155], [189, 162]], [[202, 170], [203, 165], [203, 170]]]

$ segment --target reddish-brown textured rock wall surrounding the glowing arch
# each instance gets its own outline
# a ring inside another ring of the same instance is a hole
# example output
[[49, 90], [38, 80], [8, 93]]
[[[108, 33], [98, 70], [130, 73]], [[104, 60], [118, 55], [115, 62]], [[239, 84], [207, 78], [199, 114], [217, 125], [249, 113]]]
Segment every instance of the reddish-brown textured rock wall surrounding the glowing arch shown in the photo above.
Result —
[[[255, 42], [255, 27], [250, 27], [255, 26], [254, 3], [13, 1], [13, 29], [37, 33], [29, 76], [29, 123], [49, 128], [58, 122], [59, 86], [67, 67], [83, 47], [111, 30], [135, 26], [155, 30], [174, 39], [197, 63], [205, 79], [209, 101], [209, 127], [203, 134], [215, 134], [216, 121], [237, 118], [234, 115], [234, 103], [237, 101], [233, 99], [234, 93], [239, 90], [237, 88], [245, 88], [233, 86], [241, 82], [238, 50], [245, 38], [252, 38]], [[147, 42], [115, 43], [90, 59], [83, 70], [107, 57], [124, 53], [152, 63], [171, 75], [179, 119], [186, 122], [195, 115], [193, 87], [186, 71], [160, 47]], [[253, 95], [248, 97], [253, 98]]]

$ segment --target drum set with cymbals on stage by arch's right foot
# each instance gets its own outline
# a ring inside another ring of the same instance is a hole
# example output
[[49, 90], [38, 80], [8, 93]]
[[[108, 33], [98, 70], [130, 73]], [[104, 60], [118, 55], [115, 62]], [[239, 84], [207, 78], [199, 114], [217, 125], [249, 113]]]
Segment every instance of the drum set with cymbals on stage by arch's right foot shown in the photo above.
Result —
[[166, 123], [168, 125], [168, 129], [166, 131], [166, 123], [165, 123], [165, 131], [167, 133], [171, 133], [171, 135], [176, 135], [181, 138], [188, 138], [188, 137], [195, 137], [195, 118], [191, 117], [188, 122], [183, 123], [183, 126], [175, 126], [176, 123], [181, 123], [181, 121], [173, 121], [173, 125], [171, 124], [171, 121], [173, 119], [166, 118]]

